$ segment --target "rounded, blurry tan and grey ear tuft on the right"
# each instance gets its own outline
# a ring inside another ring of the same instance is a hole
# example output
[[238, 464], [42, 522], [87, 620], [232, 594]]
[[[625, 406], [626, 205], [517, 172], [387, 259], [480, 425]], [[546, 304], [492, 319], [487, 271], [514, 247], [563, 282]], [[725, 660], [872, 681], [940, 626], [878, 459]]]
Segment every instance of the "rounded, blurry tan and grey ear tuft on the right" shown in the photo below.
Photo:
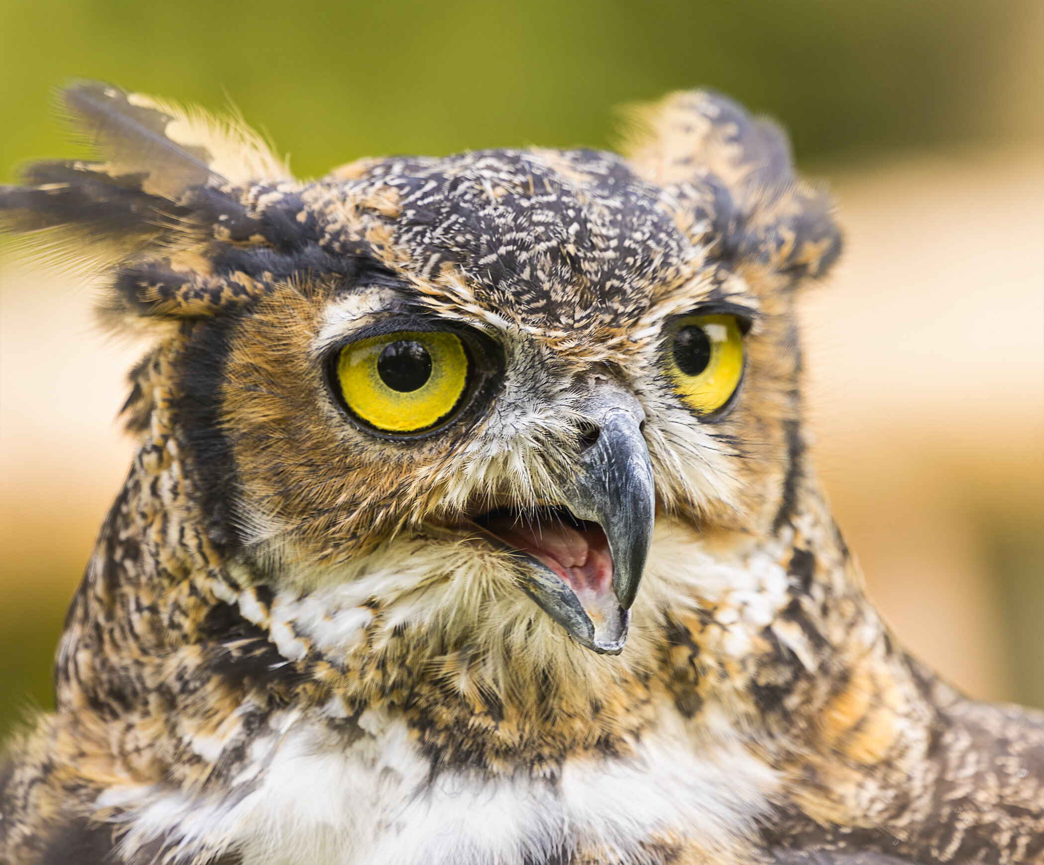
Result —
[[675, 93], [632, 113], [623, 150], [677, 202], [679, 224], [718, 258], [794, 280], [823, 275], [840, 254], [825, 188], [801, 179], [774, 123], [709, 91]]

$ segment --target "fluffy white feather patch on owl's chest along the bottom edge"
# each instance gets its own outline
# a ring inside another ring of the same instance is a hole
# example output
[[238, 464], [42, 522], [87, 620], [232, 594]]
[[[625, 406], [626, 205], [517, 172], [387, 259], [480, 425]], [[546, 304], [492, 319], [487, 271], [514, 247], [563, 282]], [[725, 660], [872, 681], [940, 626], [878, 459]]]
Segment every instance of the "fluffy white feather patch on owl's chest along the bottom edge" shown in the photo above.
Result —
[[697, 753], [668, 706], [633, 754], [570, 758], [543, 775], [435, 771], [401, 718], [358, 723], [362, 735], [335, 749], [322, 722], [291, 722], [258, 749], [267, 767], [251, 792], [159, 797], [125, 843], [165, 834], [185, 861], [232, 848], [244, 865], [702, 862], [742, 855], [777, 785], [738, 743]]

